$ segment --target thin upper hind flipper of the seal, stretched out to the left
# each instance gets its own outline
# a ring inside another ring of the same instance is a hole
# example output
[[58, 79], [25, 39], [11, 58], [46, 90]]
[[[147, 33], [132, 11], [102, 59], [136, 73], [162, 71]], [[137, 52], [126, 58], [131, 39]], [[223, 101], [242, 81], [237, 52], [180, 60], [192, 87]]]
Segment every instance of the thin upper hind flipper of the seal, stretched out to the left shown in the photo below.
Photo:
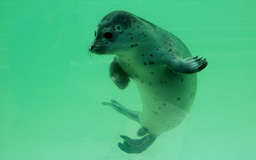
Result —
[[103, 105], [111, 106], [112, 108], [116, 109], [117, 112], [122, 113], [123, 115], [129, 117], [132, 120], [135, 120], [137, 122], [139, 121], [139, 115], [141, 112], [127, 109], [115, 100], [112, 100], [110, 103], [109, 102], [101, 102], [101, 103]]

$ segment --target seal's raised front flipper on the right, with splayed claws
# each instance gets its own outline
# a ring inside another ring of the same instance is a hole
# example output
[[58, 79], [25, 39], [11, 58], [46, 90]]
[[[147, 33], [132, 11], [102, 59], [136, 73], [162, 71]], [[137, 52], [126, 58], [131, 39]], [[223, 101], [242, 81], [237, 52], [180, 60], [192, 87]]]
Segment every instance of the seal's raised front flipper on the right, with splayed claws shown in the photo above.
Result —
[[202, 59], [202, 57], [198, 58], [198, 56], [186, 59], [181, 59], [178, 56], [162, 56], [161, 59], [175, 73], [196, 73], [204, 69], [208, 64], [206, 59]]

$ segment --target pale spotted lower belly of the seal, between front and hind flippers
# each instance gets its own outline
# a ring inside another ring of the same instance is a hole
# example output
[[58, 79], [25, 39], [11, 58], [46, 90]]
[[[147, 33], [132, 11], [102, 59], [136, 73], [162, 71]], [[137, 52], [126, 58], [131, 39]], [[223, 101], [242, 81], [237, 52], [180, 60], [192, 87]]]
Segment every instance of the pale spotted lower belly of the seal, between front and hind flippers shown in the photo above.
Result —
[[133, 81], [139, 89], [143, 103], [139, 123], [152, 134], [161, 134], [178, 126], [194, 103], [196, 73], [176, 74], [166, 69], [151, 75], [149, 82], [142, 83], [138, 77]]

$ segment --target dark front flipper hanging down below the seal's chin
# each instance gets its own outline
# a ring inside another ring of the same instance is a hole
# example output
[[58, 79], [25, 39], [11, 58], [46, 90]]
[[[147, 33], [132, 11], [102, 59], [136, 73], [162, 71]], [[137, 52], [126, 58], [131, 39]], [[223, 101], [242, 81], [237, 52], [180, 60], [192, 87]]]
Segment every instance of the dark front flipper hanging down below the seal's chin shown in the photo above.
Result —
[[109, 66], [110, 79], [116, 84], [116, 86], [123, 90], [128, 87], [131, 82], [129, 76], [123, 71], [117, 62], [117, 56], [115, 56], [110, 62]]

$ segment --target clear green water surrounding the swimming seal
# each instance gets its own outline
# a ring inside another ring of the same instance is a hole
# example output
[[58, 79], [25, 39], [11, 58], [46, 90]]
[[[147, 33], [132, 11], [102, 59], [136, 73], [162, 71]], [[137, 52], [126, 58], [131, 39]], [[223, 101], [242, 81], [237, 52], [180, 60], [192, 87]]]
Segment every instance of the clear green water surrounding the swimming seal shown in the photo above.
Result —
[[[256, 159], [254, 0], [44, 4], [0, 2], [1, 160]], [[87, 54], [98, 22], [115, 10], [168, 30], [209, 62], [188, 117], [137, 155], [117, 143], [139, 124], [101, 105], [116, 99], [142, 111], [137, 87], [121, 91], [110, 80], [113, 55]]]

